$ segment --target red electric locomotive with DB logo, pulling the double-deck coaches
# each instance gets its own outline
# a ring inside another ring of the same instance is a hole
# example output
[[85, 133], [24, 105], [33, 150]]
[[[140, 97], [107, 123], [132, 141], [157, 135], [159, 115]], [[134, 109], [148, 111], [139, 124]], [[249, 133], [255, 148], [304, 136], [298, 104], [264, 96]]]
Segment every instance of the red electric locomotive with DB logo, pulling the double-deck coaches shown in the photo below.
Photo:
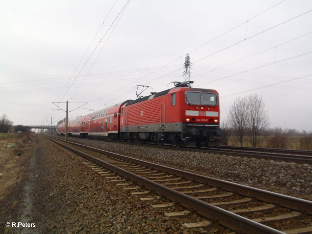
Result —
[[175, 87], [121, 107], [121, 139], [212, 146], [220, 139], [216, 90]]

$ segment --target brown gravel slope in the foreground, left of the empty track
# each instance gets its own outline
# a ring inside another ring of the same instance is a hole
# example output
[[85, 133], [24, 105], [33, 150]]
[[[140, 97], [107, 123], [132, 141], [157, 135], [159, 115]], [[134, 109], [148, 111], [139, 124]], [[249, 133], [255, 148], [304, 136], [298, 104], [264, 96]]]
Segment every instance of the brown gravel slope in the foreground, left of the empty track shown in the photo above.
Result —
[[[153, 201], [125, 192], [56, 144], [38, 136], [34, 147], [17, 222], [36, 227], [7, 233], [231, 233], [217, 223], [208, 230], [187, 229], [183, 223], [203, 218], [166, 217], [168, 210], [151, 208]], [[176, 204], [169, 212], [181, 210]]]

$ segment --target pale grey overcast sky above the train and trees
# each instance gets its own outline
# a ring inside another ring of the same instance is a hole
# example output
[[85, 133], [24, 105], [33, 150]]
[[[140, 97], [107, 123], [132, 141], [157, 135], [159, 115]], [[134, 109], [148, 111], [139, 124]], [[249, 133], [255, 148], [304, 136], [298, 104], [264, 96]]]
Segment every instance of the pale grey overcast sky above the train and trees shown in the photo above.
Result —
[[270, 127], [311, 131], [311, 42], [311, 0], [0, 0], [0, 114], [55, 124], [66, 114], [52, 102], [70, 101], [74, 119], [135, 99], [135, 85], [165, 90], [189, 53], [193, 87], [219, 92], [221, 121], [256, 93]]

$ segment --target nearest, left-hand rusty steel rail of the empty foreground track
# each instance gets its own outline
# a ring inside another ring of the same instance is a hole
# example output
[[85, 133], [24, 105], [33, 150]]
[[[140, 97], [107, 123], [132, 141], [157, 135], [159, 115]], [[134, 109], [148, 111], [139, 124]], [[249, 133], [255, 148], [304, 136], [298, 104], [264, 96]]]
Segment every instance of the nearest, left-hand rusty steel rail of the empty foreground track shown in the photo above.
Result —
[[[153, 182], [149, 179], [146, 179], [144, 177], [141, 177], [139, 175], [136, 175], [134, 173], [128, 172], [122, 168], [116, 167], [110, 163], [106, 163], [98, 158], [95, 158], [93, 156], [90, 156], [88, 154], [85, 154], [77, 149], [74, 149], [70, 146], [67, 146], [65, 144], [61, 144], [60, 142], [57, 142], [55, 140], [50, 139], [51, 141], [55, 142], [56, 144], [61, 145], [62, 147], [71, 150], [72, 152], [83, 156], [87, 158], [88, 160], [99, 164], [102, 167], [105, 167], [109, 170], [115, 171], [115, 173], [118, 173], [119, 175], [124, 176], [125, 178], [129, 178], [132, 181], [135, 181], [141, 186], [144, 186], [150, 190], [155, 191], [156, 193], [160, 195], [166, 196], [171, 201], [177, 201], [179, 202], [183, 207], [194, 209], [197, 213], [201, 214], [204, 217], [207, 218], [214, 218], [217, 219], [218, 222], [228, 227], [232, 230], [241, 230], [242, 232], [246, 233], [255, 233], [255, 234], [285, 234], [285, 232], [278, 231], [274, 228], [265, 226], [261, 223], [251, 221], [250, 219], [244, 218], [242, 216], [236, 215], [234, 213], [228, 212], [227, 210], [224, 210], [222, 208], [216, 207], [214, 205], [211, 205], [207, 202], [203, 202], [199, 199], [196, 199], [194, 197], [188, 196], [184, 193], [178, 192], [176, 190], [173, 190], [171, 188], [168, 188], [164, 185], [161, 185], [159, 183]], [[76, 145], [76, 144], [75, 144]], [[77, 144], [79, 145], [79, 144]], [[79, 145], [82, 146], [82, 145]], [[89, 147], [88, 147], [89, 148]], [[92, 148], [92, 147], [90, 147]], [[92, 148], [92, 150], [95, 148]], [[102, 151], [102, 153], [110, 153], [107, 151]], [[120, 155], [122, 156], [122, 155]]]

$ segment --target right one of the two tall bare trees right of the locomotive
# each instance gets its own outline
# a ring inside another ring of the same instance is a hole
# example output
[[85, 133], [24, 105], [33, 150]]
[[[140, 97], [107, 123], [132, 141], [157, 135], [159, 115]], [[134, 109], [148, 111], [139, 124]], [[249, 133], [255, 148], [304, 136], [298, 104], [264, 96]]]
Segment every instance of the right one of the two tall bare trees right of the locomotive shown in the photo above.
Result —
[[247, 97], [247, 134], [252, 147], [256, 147], [260, 142], [260, 135], [268, 126], [268, 114], [262, 96], [257, 94]]

